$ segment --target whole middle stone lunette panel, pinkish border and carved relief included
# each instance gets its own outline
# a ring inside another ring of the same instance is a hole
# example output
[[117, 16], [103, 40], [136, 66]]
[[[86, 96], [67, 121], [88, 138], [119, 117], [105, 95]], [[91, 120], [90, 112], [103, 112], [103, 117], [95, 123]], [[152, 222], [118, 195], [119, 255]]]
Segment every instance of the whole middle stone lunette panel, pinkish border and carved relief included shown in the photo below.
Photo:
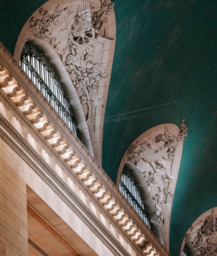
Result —
[[178, 177], [184, 137], [184, 119], [180, 129], [174, 124], [161, 124], [141, 134], [127, 149], [118, 170], [117, 186], [127, 161], [138, 169], [139, 186], [148, 186], [161, 227], [163, 242], [169, 250], [170, 215]]

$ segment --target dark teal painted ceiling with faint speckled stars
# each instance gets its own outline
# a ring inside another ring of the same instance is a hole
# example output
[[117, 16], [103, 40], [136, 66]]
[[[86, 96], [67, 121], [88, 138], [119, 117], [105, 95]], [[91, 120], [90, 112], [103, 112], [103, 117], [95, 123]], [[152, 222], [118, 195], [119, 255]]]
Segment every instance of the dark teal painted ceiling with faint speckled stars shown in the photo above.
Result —
[[[0, 41], [13, 55], [19, 32], [45, 1], [3, 1]], [[188, 126], [170, 225], [170, 253], [217, 206], [217, 2], [115, 0], [116, 50], [105, 111], [102, 167], [116, 183], [129, 145], [183, 117]]]

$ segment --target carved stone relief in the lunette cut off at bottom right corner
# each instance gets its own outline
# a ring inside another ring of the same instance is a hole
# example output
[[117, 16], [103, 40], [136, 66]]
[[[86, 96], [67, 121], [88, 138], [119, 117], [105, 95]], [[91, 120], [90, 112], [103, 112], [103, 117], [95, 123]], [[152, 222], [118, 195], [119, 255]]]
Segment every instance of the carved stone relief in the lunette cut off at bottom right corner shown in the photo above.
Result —
[[[216, 209], [216, 208], [215, 208]], [[216, 256], [217, 253], [217, 215], [215, 209], [209, 215], [199, 217], [185, 235], [189, 239], [198, 256]]]

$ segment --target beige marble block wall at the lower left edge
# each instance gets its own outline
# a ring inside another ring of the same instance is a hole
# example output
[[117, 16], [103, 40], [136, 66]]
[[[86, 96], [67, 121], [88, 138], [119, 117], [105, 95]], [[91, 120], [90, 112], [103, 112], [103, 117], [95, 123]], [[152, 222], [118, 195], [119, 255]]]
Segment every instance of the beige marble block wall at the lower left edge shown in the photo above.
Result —
[[11, 153], [0, 138], [0, 255], [24, 256], [28, 255], [26, 184], [16, 173]]

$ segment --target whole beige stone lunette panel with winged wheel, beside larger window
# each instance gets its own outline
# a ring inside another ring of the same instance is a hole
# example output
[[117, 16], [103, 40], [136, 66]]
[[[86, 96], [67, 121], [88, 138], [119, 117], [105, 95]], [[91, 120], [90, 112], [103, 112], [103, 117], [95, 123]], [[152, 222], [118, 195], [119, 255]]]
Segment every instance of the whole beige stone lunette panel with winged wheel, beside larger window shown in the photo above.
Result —
[[[110, 0], [75, 0], [64, 1], [64, 4], [47, 1], [22, 27], [14, 51], [14, 57], [19, 61], [26, 41], [35, 39], [40, 39], [54, 51], [55, 56], [49, 60], [59, 59], [64, 74], [70, 78], [70, 84], [65, 85], [66, 93], [72, 106], [75, 95], [78, 95], [76, 105], [80, 108], [74, 115], [79, 119], [78, 123], [83, 121], [82, 129], [88, 128], [91, 142], [84, 143], [87, 147], [92, 145], [100, 165], [104, 112], [115, 51], [113, 6]], [[85, 12], [85, 18], [80, 10]]]

